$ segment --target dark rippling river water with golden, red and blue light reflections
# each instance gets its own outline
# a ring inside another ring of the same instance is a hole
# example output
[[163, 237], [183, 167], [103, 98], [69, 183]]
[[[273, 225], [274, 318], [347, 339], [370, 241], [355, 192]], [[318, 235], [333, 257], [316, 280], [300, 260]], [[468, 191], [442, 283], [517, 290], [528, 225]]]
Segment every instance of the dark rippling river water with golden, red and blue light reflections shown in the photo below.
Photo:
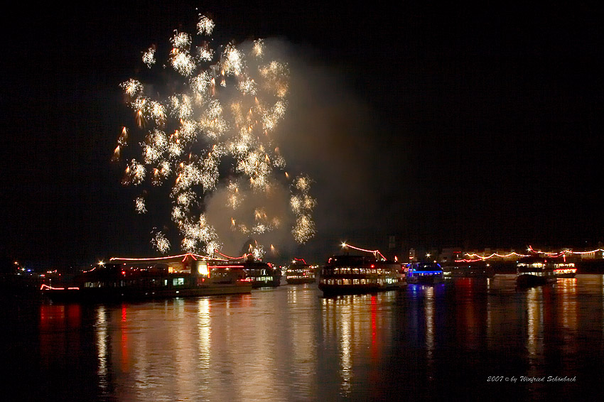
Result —
[[336, 298], [312, 284], [118, 305], [3, 305], [7, 401], [604, 396], [602, 275], [523, 290], [497, 275]]

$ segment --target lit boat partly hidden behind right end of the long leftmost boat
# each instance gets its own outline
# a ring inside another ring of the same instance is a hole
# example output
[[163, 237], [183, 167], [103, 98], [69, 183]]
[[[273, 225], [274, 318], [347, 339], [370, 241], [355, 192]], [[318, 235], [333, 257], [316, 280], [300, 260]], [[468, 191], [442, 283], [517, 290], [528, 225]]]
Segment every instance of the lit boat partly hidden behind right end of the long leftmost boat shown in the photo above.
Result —
[[224, 259], [216, 259], [217, 267], [242, 270], [245, 277], [252, 283], [252, 288], [276, 288], [281, 284], [281, 269], [273, 264], [254, 259], [252, 254], [244, 254], [240, 257], [227, 256], [220, 251], [215, 253]]

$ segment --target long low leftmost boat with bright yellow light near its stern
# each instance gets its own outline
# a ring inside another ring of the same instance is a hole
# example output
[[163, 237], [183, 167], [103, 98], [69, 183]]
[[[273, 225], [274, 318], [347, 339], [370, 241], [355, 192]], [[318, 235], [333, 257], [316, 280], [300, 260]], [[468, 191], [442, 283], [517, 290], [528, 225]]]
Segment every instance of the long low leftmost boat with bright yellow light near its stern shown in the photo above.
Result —
[[149, 259], [112, 258], [62, 285], [42, 285], [53, 301], [145, 300], [249, 293], [252, 281], [237, 267], [198, 254]]

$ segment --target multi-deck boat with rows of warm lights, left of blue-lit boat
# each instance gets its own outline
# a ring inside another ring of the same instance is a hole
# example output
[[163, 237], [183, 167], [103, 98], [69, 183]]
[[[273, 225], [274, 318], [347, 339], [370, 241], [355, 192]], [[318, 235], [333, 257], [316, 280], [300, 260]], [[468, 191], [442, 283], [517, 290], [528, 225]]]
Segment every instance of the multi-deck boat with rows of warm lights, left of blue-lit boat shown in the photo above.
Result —
[[363, 251], [367, 255], [330, 257], [320, 271], [318, 287], [323, 295], [397, 290], [406, 284], [399, 262], [388, 261], [378, 250], [359, 249], [350, 244], [343, 244], [343, 248]]

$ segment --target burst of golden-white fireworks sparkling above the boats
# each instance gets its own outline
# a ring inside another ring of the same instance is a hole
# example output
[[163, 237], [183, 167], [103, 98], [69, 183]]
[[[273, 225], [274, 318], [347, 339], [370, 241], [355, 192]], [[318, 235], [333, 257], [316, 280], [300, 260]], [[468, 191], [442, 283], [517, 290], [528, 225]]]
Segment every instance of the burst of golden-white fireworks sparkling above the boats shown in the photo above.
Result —
[[[196, 28], [195, 35], [175, 31], [166, 55], [158, 54], [155, 45], [142, 53], [141, 61], [151, 72], [168, 66], [161, 77], [171, 94], [158, 94], [156, 87], [149, 91], [135, 79], [122, 83], [138, 129], [122, 129], [113, 159], [125, 156], [128, 148], [124, 185], [150, 183], [156, 192], [171, 186], [166, 193], [180, 247], [210, 254], [221, 242], [205, 214], [205, 197], [218, 188], [226, 194], [225, 210], [231, 211], [220, 217], [229, 232], [261, 237], [288, 222], [284, 209], [271, 210], [269, 200], [277, 186], [286, 185], [284, 179], [290, 180], [272, 136], [286, 118], [289, 70], [281, 60], [270, 59], [264, 40], [228, 43], [216, 51], [207, 38], [214, 22], [200, 16]], [[316, 232], [311, 181], [299, 175], [289, 183], [289, 214], [295, 220], [291, 233], [301, 244]], [[136, 197], [134, 204], [139, 214], [147, 212], [143, 197]], [[253, 212], [242, 216], [244, 211]], [[163, 232], [153, 232], [151, 244], [161, 253], [171, 247]], [[261, 258], [264, 246], [254, 244], [249, 252]]]

